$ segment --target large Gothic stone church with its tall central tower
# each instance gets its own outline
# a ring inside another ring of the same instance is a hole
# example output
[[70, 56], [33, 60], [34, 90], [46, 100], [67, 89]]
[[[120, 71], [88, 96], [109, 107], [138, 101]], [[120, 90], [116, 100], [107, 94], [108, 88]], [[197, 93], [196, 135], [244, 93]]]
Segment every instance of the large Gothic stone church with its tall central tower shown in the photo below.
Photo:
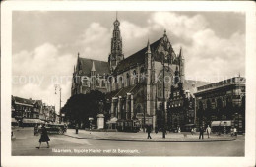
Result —
[[[144, 48], [124, 58], [120, 22], [116, 19], [113, 26], [108, 62], [81, 58], [78, 55], [71, 94], [88, 93], [95, 89], [105, 92], [110, 106], [107, 112], [111, 118], [139, 119], [141, 124], [144, 124], [145, 119], [146, 124], [155, 128], [158, 126], [157, 112], [160, 112], [160, 103], [164, 100], [166, 105], [171, 94], [176, 67], [180, 82], [186, 83], [182, 49], [178, 54], [174, 52], [164, 30], [160, 39], [153, 43], [148, 41]], [[186, 90], [185, 85], [182, 88]], [[167, 119], [167, 107], [165, 110]]]

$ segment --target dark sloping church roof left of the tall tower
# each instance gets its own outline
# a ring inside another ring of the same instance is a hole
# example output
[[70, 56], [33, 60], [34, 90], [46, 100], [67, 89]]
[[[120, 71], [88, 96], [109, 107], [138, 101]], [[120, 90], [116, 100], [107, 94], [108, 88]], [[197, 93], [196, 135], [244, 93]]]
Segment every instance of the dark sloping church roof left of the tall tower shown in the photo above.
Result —
[[95, 65], [94, 70], [96, 70], [97, 74], [103, 75], [110, 73], [108, 62], [81, 57], [79, 57], [79, 62], [81, 63], [83, 74], [89, 75], [93, 68], [93, 64]]

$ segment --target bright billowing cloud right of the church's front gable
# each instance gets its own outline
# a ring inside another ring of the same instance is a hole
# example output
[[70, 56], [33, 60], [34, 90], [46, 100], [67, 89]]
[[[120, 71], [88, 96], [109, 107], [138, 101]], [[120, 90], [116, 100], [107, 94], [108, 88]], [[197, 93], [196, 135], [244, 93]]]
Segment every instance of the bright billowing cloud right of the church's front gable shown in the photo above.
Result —
[[[169, 12], [154, 13], [148, 22], [153, 30], [166, 28], [174, 39], [174, 50], [183, 47], [186, 76], [217, 82], [245, 71], [245, 35], [234, 32], [218, 36], [201, 15], [192, 17]], [[172, 38], [171, 38], [172, 39]], [[219, 76], [219, 78], [218, 78]]]

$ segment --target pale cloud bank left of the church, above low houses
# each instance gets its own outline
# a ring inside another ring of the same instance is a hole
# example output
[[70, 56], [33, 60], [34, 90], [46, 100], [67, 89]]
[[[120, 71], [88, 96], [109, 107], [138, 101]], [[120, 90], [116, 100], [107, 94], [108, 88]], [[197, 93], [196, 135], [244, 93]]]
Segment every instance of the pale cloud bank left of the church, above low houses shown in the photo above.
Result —
[[66, 101], [70, 97], [70, 76], [73, 72], [71, 62], [76, 62], [76, 56], [61, 54], [58, 47], [51, 43], [13, 55], [14, 95], [43, 99], [54, 104], [59, 98], [54, 96], [54, 84], [59, 83], [63, 101]]

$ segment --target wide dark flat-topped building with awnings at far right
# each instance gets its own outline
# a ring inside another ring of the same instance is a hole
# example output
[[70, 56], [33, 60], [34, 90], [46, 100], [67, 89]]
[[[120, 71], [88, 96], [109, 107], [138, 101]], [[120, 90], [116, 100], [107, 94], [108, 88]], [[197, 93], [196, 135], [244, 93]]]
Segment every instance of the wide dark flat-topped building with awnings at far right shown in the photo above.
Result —
[[230, 122], [232, 128], [244, 132], [245, 96], [243, 77], [199, 86], [195, 93], [197, 124], [206, 126], [213, 121], [225, 121]]

